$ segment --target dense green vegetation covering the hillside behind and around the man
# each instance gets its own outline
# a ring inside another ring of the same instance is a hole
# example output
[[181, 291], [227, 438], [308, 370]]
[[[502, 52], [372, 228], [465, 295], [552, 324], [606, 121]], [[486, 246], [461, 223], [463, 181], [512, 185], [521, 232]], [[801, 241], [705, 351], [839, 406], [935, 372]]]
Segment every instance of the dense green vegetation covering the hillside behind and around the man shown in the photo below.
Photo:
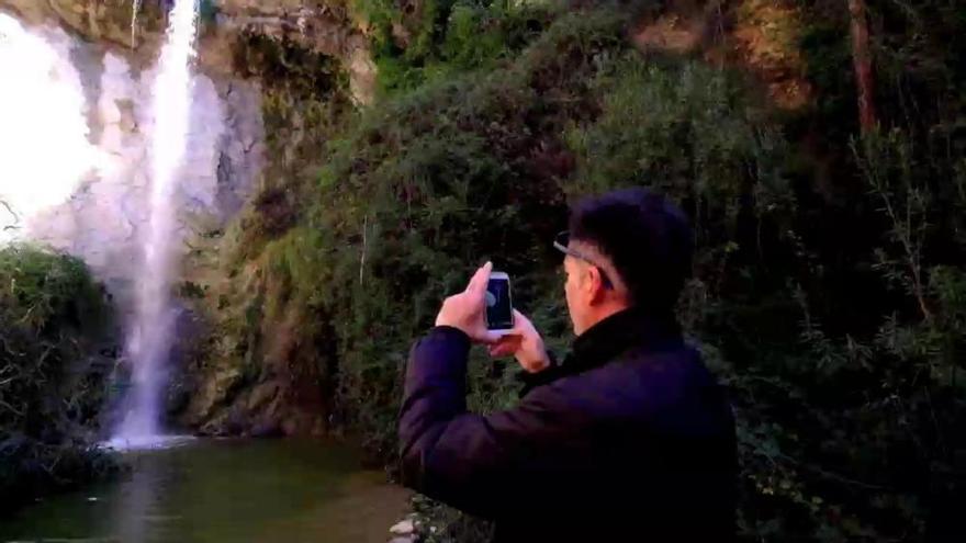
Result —
[[[660, 8], [641, 4], [360, 3], [378, 103], [350, 112], [332, 71], [267, 102], [285, 160], [227, 235], [240, 280], [206, 299], [223, 315], [216, 355], [244, 376], [232, 391], [259, 378], [267, 337], [295, 335], [333, 423], [391, 463], [406, 351], [440, 299], [493, 259], [564, 348], [548, 245], [566, 203], [648, 185], [695, 223], [679, 315], [732, 391], [741, 534], [952, 533], [966, 488], [962, 9], [868, 2], [879, 117], [863, 132], [846, 2], [787, 2], [785, 45], [813, 92], [793, 111], [753, 66], [634, 48], [629, 29]], [[513, 405], [514, 373], [474, 360], [474, 407]], [[476, 533], [447, 514], [434, 538]]]

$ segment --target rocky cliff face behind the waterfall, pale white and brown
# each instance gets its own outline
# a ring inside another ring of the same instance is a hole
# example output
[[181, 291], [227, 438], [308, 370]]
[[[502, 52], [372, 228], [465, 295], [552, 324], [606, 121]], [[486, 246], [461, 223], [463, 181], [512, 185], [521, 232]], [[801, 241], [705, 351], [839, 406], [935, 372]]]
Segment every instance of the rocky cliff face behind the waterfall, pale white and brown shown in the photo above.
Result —
[[[53, 68], [43, 77], [82, 97], [81, 137], [97, 155], [96, 166], [59, 201], [19, 216], [13, 226], [21, 235], [83, 258], [106, 283], [122, 314], [131, 310], [138, 281], [133, 262], [142, 258], [138, 231], [147, 220], [151, 83], [166, 3], [143, 0], [135, 18], [132, 0], [0, 0], [0, 14], [12, 15], [54, 52]], [[239, 296], [266, 295], [257, 278], [222, 278], [217, 258], [209, 258], [217, 253], [221, 236], [260, 191], [263, 179], [278, 174], [277, 162], [291, 161], [289, 147], [299, 145], [297, 129], [289, 136], [266, 134], [265, 115], [272, 111], [266, 102], [279, 99], [272, 90], [279, 81], [266, 79], [272, 70], [245, 66], [250, 58], [263, 59], [258, 49], [266, 44], [297, 49], [304, 53], [300, 58], [319, 63], [300, 66], [303, 71], [336, 66], [348, 76], [346, 91], [353, 102], [372, 99], [375, 71], [368, 41], [345, 8], [295, 0], [202, 2], [189, 154], [179, 182], [186, 244], [183, 275], [176, 286], [186, 304], [176, 358], [188, 360], [192, 352], [211, 347], [210, 330], [220, 318], [194, 307], [193, 293], [184, 292], [198, 278], [207, 283], [247, 281], [254, 290], [239, 287]], [[48, 156], [57, 159], [57, 150], [49, 149]], [[0, 216], [0, 228], [8, 226], [3, 219]], [[181, 370], [172, 378], [171, 409], [183, 422], [210, 433], [319, 431], [322, 392], [306, 385], [313, 377], [290, 361], [287, 353], [297, 346], [287, 341], [267, 335], [265, 360], [246, 360], [244, 367], [229, 352], [224, 364], [214, 355], [201, 357], [201, 365], [173, 361]], [[245, 367], [258, 369], [257, 375], [248, 375]]]

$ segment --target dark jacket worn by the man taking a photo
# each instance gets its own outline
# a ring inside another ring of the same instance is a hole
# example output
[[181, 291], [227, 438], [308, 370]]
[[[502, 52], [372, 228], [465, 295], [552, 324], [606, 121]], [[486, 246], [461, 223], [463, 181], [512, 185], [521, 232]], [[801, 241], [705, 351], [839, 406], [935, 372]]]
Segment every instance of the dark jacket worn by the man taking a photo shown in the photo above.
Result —
[[488, 416], [467, 410], [469, 350], [448, 327], [413, 347], [407, 486], [495, 520], [501, 542], [732, 539], [731, 407], [672, 318], [603, 320], [518, 407]]

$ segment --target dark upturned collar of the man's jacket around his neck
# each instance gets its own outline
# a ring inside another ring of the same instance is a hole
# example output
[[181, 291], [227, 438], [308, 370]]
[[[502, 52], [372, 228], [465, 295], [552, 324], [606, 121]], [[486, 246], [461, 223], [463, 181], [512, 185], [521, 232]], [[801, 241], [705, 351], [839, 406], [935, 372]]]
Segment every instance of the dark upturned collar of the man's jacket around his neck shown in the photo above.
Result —
[[566, 373], [582, 372], [631, 349], [654, 352], [683, 343], [681, 327], [673, 314], [655, 316], [631, 307], [615, 313], [577, 337], [563, 369]]

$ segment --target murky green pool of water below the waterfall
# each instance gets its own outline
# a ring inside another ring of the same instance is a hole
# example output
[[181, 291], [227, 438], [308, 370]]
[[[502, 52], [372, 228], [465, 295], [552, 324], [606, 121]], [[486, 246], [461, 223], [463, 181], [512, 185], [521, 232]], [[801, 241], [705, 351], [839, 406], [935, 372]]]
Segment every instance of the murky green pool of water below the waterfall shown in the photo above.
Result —
[[324, 442], [194, 440], [130, 474], [0, 518], [2, 542], [378, 542], [407, 494]]

